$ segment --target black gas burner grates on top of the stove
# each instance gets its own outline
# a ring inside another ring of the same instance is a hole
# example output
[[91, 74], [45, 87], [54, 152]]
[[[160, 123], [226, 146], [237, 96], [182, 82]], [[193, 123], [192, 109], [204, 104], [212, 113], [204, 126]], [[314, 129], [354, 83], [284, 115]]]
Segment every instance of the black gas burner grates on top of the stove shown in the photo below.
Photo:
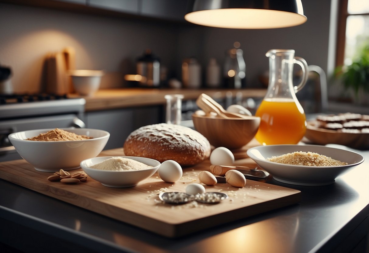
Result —
[[17, 103], [28, 103], [35, 101], [51, 101], [51, 100], [63, 100], [68, 99], [67, 94], [0, 94], [0, 104], [17, 104]]

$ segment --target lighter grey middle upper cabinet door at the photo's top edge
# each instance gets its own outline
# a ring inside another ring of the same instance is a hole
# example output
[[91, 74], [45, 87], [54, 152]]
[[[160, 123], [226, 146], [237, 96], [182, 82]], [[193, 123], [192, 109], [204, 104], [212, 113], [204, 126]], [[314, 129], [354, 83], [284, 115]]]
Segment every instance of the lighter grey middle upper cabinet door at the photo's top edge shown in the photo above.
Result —
[[87, 0], [91, 7], [138, 14], [138, 0]]

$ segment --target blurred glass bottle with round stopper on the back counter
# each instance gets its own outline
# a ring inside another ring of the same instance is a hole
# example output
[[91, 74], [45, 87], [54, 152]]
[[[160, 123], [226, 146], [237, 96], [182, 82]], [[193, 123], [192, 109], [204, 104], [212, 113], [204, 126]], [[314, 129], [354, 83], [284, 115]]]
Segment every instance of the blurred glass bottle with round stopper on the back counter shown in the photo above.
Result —
[[240, 89], [246, 86], [246, 63], [244, 52], [239, 47], [239, 42], [234, 42], [234, 48], [227, 51], [224, 62], [223, 80], [224, 87]]

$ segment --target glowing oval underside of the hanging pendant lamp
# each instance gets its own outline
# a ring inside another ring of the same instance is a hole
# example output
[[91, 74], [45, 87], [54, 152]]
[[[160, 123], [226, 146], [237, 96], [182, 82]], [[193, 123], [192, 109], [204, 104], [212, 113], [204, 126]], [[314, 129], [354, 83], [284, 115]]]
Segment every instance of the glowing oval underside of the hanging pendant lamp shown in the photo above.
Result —
[[188, 13], [184, 18], [198, 25], [235, 29], [268, 29], [301, 25], [304, 15], [264, 9], [215, 9]]

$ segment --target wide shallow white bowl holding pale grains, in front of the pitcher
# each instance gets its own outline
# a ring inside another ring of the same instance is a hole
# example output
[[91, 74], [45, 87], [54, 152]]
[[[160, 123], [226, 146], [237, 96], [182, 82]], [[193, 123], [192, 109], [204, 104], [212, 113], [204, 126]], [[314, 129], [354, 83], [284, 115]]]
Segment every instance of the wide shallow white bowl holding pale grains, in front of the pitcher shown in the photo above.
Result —
[[[332, 159], [346, 162], [342, 166], [301, 166], [267, 161], [272, 156], [293, 152], [314, 152]], [[323, 186], [334, 183], [335, 179], [352, 167], [362, 163], [364, 157], [358, 153], [319, 145], [266, 145], [247, 150], [247, 155], [260, 167], [272, 174], [277, 181], [302, 186]]]

